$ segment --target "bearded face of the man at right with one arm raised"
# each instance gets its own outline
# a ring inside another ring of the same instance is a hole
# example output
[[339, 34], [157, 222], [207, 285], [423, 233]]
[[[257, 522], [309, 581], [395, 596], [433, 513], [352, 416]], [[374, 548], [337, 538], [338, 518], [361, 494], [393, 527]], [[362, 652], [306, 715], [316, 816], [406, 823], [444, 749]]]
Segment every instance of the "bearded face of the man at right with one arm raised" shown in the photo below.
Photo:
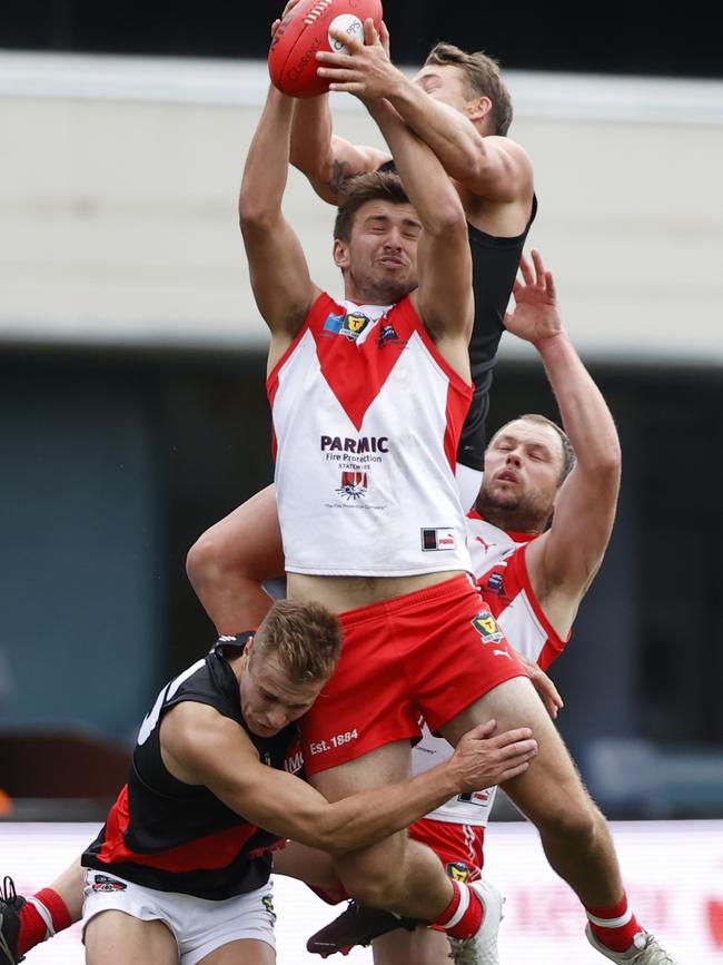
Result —
[[481, 514], [513, 516], [508, 529], [542, 530], [552, 515], [563, 474], [562, 440], [551, 425], [517, 419], [493, 436], [485, 453]]

